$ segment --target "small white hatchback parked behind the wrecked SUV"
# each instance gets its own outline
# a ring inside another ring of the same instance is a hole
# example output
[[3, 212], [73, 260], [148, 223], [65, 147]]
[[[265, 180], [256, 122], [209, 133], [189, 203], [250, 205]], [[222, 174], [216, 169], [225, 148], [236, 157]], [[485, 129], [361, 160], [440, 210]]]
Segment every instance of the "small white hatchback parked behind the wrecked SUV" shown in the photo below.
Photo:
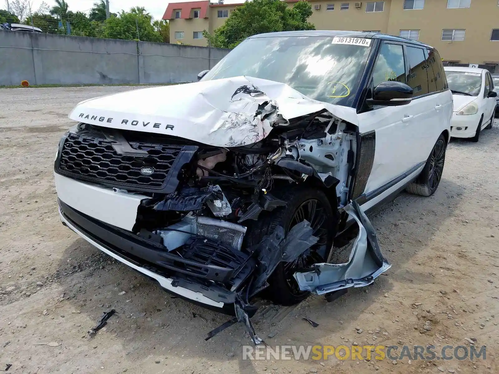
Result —
[[487, 69], [445, 67], [449, 88], [453, 94], [451, 137], [469, 138], [478, 142], [483, 129], [494, 123], [497, 92]]

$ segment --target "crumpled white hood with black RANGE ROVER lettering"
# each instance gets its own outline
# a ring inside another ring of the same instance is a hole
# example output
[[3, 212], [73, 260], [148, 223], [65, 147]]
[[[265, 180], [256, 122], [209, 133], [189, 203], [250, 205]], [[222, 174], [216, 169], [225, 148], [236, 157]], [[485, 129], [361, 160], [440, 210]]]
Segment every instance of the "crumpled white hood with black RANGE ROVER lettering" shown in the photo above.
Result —
[[353, 108], [312, 100], [284, 83], [239, 76], [132, 90], [79, 103], [75, 121], [166, 134], [236, 147], [264, 139], [272, 127], [327, 109], [357, 124]]

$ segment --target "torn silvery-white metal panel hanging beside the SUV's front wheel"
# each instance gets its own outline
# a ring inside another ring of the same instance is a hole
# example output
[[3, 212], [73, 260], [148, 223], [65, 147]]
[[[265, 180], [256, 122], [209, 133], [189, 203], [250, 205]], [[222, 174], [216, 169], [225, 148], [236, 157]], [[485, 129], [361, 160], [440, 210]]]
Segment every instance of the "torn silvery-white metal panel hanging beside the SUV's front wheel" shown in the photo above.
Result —
[[359, 225], [348, 262], [316, 264], [312, 271], [295, 273], [293, 276], [300, 290], [322, 295], [348, 287], [367, 286], [392, 266], [383, 258], [376, 232], [358, 204], [349, 204], [344, 209]]

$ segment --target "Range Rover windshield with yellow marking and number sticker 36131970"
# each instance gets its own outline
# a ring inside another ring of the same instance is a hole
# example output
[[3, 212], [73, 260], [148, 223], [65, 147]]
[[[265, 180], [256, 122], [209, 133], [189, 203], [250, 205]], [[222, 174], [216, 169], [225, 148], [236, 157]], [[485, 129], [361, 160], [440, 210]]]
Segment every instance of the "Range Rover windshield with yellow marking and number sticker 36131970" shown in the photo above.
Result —
[[[279, 36], [247, 39], [202, 80], [241, 75], [285, 83], [311, 99], [351, 106], [371, 39]], [[339, 40], [341, 39], [341, 40]], [[350, 40], [343, 40], [350, 39]]]

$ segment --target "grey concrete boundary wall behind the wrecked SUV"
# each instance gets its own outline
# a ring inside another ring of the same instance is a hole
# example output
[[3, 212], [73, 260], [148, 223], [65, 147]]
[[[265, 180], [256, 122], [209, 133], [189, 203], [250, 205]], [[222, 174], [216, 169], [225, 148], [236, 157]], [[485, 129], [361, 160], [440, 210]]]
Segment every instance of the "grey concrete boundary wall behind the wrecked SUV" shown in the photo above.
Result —
[[0, 31], [0, 86], [196, 81], [226, 49]]

